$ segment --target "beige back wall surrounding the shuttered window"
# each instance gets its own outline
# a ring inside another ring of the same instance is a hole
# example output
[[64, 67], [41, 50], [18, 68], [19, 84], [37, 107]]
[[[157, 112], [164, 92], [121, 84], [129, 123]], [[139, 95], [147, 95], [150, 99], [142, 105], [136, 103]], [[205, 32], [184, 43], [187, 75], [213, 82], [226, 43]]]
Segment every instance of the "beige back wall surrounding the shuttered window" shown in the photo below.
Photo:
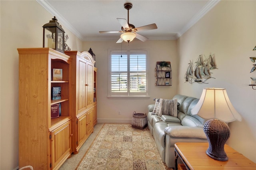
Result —
[[[118, 37], [116, 38], [118, 40]], [[117, 41], [116, 40], [116, 41]], [[125, 49], [146, 49], [148, 51], [149, 99], [109, 99], [108, 96], [108, 49], [121, 49], [121, 44], [112, 42], [84, 42], [83, 49], [92, 48], [98, 67], [97, 118], [98, 122], [130, 123], [132, 113], [147, 113], [147, 106], [154, 103], [154, 98], [170, 99], [177, 90], [178, 57], [176, 40], [146, 41], [133, 40], [122, 43]], [[156, 61], [170, 61], [172, 66], [172, 86], [155, 86]], [[120, 111], [121, 115], [118, 115]]]

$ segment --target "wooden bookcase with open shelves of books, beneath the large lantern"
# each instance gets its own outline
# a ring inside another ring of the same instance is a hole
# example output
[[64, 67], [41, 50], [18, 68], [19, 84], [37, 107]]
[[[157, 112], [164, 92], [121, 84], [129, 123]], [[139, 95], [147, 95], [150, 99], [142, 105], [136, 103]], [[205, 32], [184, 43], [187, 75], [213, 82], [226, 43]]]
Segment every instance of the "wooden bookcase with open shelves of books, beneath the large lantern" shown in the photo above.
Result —
[[[58, 169], [71, 155], [71, 58], [51, 48], [18, 48], [19, 167]], [[52, 81], [52, 69], [62, 69], [62, 81]], [[61, 87], [61, 99], [51, 100], [51, 88]], [[61, 103], [61, 115], [51, 119], [51, 105]]]

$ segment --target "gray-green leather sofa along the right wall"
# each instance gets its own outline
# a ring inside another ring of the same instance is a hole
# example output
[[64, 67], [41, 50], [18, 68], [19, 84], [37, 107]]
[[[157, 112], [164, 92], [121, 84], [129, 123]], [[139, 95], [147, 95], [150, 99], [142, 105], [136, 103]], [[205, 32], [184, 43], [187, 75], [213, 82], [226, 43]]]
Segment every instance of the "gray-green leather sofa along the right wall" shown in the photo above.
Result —
[[204, 123], [207, 121], [191, 114], [191, 109], [199, 99], [184, 95], [175, 95], [177, 99], [177, 117], [156, 115], [155, 105], [148, 105], [148, 128], [154, 136], [156, 146], [169, 168], [174, 167], [174, 144], [176, 142], [208, 142], [204, 134]]

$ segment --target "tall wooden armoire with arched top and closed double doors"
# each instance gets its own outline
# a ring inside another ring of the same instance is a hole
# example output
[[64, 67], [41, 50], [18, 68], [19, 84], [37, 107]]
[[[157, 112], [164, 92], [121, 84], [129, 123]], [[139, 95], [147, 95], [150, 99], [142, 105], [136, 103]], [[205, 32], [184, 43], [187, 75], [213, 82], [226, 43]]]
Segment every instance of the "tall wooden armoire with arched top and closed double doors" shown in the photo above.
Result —
[[[87, 52], [65, 51], [72, 59], [71, 64], [71, 114], [72, 114], [72, 151], [79, 152], [82, 144], [94, 130], [94, 117], [97, 115], [94, 91], [94, 63]], [[74, 118], [74, 119], [73, 119]], [[97, 119], [97, 118], [96, 118]]]

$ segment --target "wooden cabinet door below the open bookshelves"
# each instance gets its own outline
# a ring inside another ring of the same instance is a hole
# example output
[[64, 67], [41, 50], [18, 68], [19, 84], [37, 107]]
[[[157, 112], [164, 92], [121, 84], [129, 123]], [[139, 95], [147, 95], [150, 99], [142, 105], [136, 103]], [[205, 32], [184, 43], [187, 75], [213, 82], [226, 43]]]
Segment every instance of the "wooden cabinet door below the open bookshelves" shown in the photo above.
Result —
[[52, 169], [60, 168], [61, 164], [71, 155], [71, 136], [71, 121], [51, 132]]

